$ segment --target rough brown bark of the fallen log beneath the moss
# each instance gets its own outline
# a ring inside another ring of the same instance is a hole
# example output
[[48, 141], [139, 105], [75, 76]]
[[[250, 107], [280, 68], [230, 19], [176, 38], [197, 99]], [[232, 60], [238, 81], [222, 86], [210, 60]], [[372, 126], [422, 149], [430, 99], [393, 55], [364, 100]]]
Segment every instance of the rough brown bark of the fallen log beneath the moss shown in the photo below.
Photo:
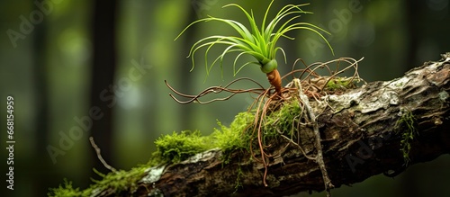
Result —
[[[401, 152], [405, 127], [396, 124], [406, 112], [414, 115], [418, 135], [410, 141], [410, 165], [450, 153], [450, 53], [401, 78], [374, 82], [347, 94], [328, 95], [329, 106], [318, 115], [323, 157], [332, 184], [355, 184], [406, 168]], [[397, 125], [397, 126], [396, 126]], [[305, 129], [305, 128], [303, 128]], [[301, 130], [301, 146], [314, 154], [311, 129]], [[263, 185], [264, 166], [242, 153], [223, 165], [218, 149], [184, 162], [148, 169], [135, 196], [284, 196], [323, 191], [320, 167], [291, 143], [278, 146]], [[285, 149], [284, 149], [285, 148]], [[246, 159], [247, 158], [247, 159]], [[236, 190], [237, 182], [240, 186]], [[128, 191], [130, 193], [130, 191]]]

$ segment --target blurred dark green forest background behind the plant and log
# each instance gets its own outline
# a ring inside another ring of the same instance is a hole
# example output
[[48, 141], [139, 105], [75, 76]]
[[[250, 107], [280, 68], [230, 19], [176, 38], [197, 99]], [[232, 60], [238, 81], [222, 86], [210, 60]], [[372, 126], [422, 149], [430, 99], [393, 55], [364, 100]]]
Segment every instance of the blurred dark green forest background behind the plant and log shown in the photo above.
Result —
[[[206, 80], [202, 51], [197, 54], [193, 72], [189, 72], [192, 63], [186, 56], [196, 40], [212, 34], [234, 35], [235, 31], [220, 22], [202, 22], [179, 40], [174, 39], [187, 24], [208, 14], [247, 24], [238, 9], [222, 9], [224, 4], [241, 4], [261, 19], [269, 2], [0, 1], [0, 136], [5, 148], [6, 96], [13, 95], [16, 141], [14, 192], [2, 186], [2, 196], [43, 196], [49, 187], [62, 184], [64, 178], [81, 188], [92, 183], [89, 177], [100, 179], [92, 168], [103, 173], [107, 170], [95, 157], [89, 136], [94, 136], [111, 166], [129, 170], [148, 162], [155, 150], [153, 142], [162, 134], [174, 130], [209, 134], [217, 127], [216, 120], [228, 125], [238, 112], [247, 110], [252, 102], [250, 95], [207, 105], [181, 105], [169, 97], [164, 80], [186, 94], [228, 84], [234, 79], [229, 67], [232, 55], [225, 60], [223, 78], [219, 67], [215, 67]], [[308, 1], [275, 0], [270, 16], [285, 4], [302, 3]], [[450, 51], [448, 0], [310, 3], [304, 9], [314, 14], [303, 15], [301, 20], [332, 33], [327, 38], [335, 56], [313, 32], [293, 31], [289, 35], [295, 40], [280, 42], [287, 53], [287, 64], [278, 60], [282, 75], [292, 68], [296, 58], [311, 64], [339, 57], [365, 57], [360, 63], [361, 77], [367, 82], [391, 80]], [[219, 49], [212, 53], [218, 54]], [[246, 67], [238, 76], [252, 77], [269, 86], [259, 67]], [[49, 149], [57, 154], [53, 159]], [[1, 151], [4, 179], [6, 154], [5, 149]], [[377, 175], [332, 193], [448, 196], [449, 166], [450, 156], [441, 156], [411, 166], [394, 179]]]

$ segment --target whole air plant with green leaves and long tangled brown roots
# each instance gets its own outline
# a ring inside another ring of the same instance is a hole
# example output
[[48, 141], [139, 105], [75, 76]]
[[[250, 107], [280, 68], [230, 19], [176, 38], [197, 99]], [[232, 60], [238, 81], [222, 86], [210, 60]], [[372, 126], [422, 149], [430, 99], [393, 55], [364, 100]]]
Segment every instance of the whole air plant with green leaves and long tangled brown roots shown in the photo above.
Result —
[[[177, 100], [175, 98], [175, 96], [170, 94], [172, 96], [172, 98], [174, 98], [175, 101], [178, 103], [211, 103], [214, 101], [227, 100], [227, 99], [229, 99], [229, 97], [233, 96], [234, 94], [239, 94], [239, 93], [256, 93], [256, 94], [258, 94], [258, 96], [255, 100], [255, 103], [257, 103], [257, 106], [256, 106], [257, 112], [255, 113], [255, 121], [253, 123], [254, 127], [253, 127], [253, 131], [251, 133], [251, 141], [253, 141], [253, 136], [257, 132], [257, 143], [258, 143], [258, 147], [259, 147], [259, 154], [261, 155], [261, 159], [257, 159], [257, 160], [261, 161], [263, 163], [263, 165], [265, 166], [265, 174], [263, 177], [263, 184], [266, 186], [267, 186], [266, 175], [267, 175], [267, 167], [268, 167], [268, 162], [269, 162], [268, 158], [271, 157], [271, 155], [266, 154], [266, 152], [265, 152], [265, 148], [270, 147], [270, 146], [265, 144], [266, 142], [264, 142], [263, 137], [262, 137], [262, 135], [263, 135], [262, 127], [265, 124], [266, 114], [269, 111], [271, 111], [269, 106], [271, 104], [273, 104], [272, 103], [273, 100], [276, 99], [278, 101], [283, 101], [283, 100], [279, 100], [278, 98], [283, 98], [284, 97], [283, 94], [285, 92], [288, 93], [288, 96], [290, 96], [289, 94], [293, 95], [293, 94], [298, 93], [298, 96], [300, 96], [302, 98], [302, 99], [298, 100], [299, 106], [301, 106], [302, 108], [308, 109], [308, 110], [302, 109], [301, 116], [304, 115], [305, 117], [308, 117], [307, 119], [305, 119], [305, 120], [309, 120], [309, 121], [307, 121], [307, 123], [311, 123], [311, 124], [315, 125], [314, 126], [314, 135], [316, 136], [315, 147], [317, 147], [318, 153], [317, 153], [317, 157], [309, 157], [309, 158], [314, 159], [315, 161], [317, 161], [320, 164], [320, 170], [322, 171], [322, 175], [324, 178], [325, 189], [327, 190], [327, 192], [329, 192], [329, 188], [332, 188], [333, 185], [331, 184], [331, 182], [329, 180], [326, 168], [324, 166], [321, 147], [320, 147], [321, 146], [320, 145], [320, 133], [319, 133], [319, 130], [317, 127], [317, 121], [316, 121], [315, 115], [311, 111], [311, 105], [309, 104], [308, 97], [306, 96], [306, 94], [303, 93], [302, 83], [301, 83], [300, 79], [294, 80], [297, 82], [294, 87], [291, 85], [291, 87], [286, 87], [283, 89], [282, 77], [280, 76], [280, 74], [277, 70], [278, 62], [275, 59], [276, 53], [281, 51], [284, 56], [284, 62], [287, 63], [286, 54], [284, 52], [284, 49], [277, 46], [277, 41], [282, 37], [289, 39], [289, 40], [294, 40], [293, 37], [286, 35], [287, 32], [294, 31], [294, 30], [307, 30], [307, 31], [313, 31], [313, 32], [317, 33], [321, 39], [325, 40], [325, 42], [329, 46], [329, 49], [333, 53], [333, 49], [331, 48], [329, 41], [322, 35], [322, 33], [329, 34], [329, 32], [325, 31], [324, 29], [320, 28], [319, 26], [316, 26], [309, 22], [298, 22], [298, 18], [301, 17], [302, 13], [305, 13], [305, 14], [311, 13], [311, 12], [306, 12], [306, 11], [302, 10], [302, 6], [305, 6], [308, 4], [287, 4], [280, 11], [278, 11], [278, 13], [276, 13], [276, 15], [275, 15], [274, 19], [272, 19], [272, 21], [268, 22], [267, 16], [269, 14], [272, 4], [274, 4], [274, 1], [275, 0], [272, 0], [270, 2], [270, 4], [268, 5], [260, 27], [257, 26], [257, 22], [255, 20], [253, 11], [250, 11], [250, 13], [248, 13], [242, 6], [240, 6], [238, 4], [227, 4], [223, 7], [237, 7], [240, 11], [242, 11], [242, 13], [244, 13], [246, 15], [247, 20], [249, 22], [249, 27], [246, 27], [241, 22], [237, 22], [237, 21], [233, 21], [233, 20], [229, 20], [229, 19], [217, 18], [217, 17], [213, 17], [213, 16], [208, 16], [207, 18], [197, 20], [197, 21], [192, 22], [189, 25], [187, 25], [187, 27], [185, 27], [184, 30], [181, 31], [181, 33], [175, 38], [175, 40], [178, 39], [184, 33], [184, 31], [186, 31], [189, 27], [191, 27], [193, 24], [198, 23], [198, 22], [217, 21], [217, 22], [224, 22], [224, 23], [228, 24], [232, 29], [234, 29], [235, 31], [238, 32], [238, 36], [212, 35], [212, 36], [209, 36], [209, 37], [206, 37], [206, 38], [196, 41], [193, 44], [192, 48], [190, 49], [189, 55], [188, 55], [188, 58], [192, 58], [192, 61], [193, 61], [192, 62], [193, 66], [191, 68], [191, 71], [195, 67], [194, 55], [198, 49], [206, 48], [205, 52], [204, 52], [204, 58], [205, 58], [205, 67], [206, 67], [206, 75], [207, 76], [209, 75], [211, 68], [216, 63], [219, 62], [220, 68], [223, 68], [223, 59], [224, 59], [225, 55], [232, 53], [232, 52], [237, 52], [236, 58], [234, 58], [234, 62], [232, 64], [233, 65], [232, 66], [233, 74], [236, 76], [236, 74], [238, 74], [238, 72], [243, 67], [247, 67], [248, 65], [252, 65], [252, 64], [259, 65], [261, 68], [261, 71], [266, 74], [267, 80], [269, 81], [270, 85], [275, 87], [275, 94], [270, 94], [270, 91], [272, 90], [271, 88], [264, 89], [257, 82], [255, 82], [251, 78], [247, 78], [247, 77], [234, 80], [233, 82], [229, 83], [229, 85], [226, 85], [226, 86], [211, 86], [210, 88], [207, 88], [204, 91], [202, 91], [202, 93], [196, 94], [196, 95], [181, 94], [181, 93], [175, 91], [175, 89], [172, 88], [167, 83], [166, 83], [166, 85], [172, 91], [174, 91], [175, 94], [178, 94], [184, 98], [189, 99], [188, 101], [182, 102], [182, 101]], [[208, 53], [210, 52], [211, 48], [215, 45], [224, 45], [224, 46], [226, 46], [226, 48], [220, 53], [220, 55], [217, 58], [215, 58], [212, 61], [211, 64], [208, 64]], [[247, 63], [244, 63], [244, 64], [240, 65], [239, 67], [237, 67], [238, 59], [240, 57], [242, 57], [243, 55], [252, 56], [252, 57], [256, 58], [257, 61], [247, 62]], [[346, 59], [343, 59], [343, 60], [346, 60]], [[340, 60], [337, 60], [337, 61], [340, 62]], [[351, 62], [351, 61], [347, 60], [347, 62]], [[308, 73], [308, 75], [305, 78], [311, 79], [312, 77], [317, 76], [315, 74], [316, 68], [314, 68], [314, 67], [315, 66], [311, 66], [311, 67], [307, 67], [306, 69], [301, 69], [298, 71], [293, 70], [291, 72], [291, 74], [293, 75], [293, 73], [296, 73], [296, 72], [302, 72], [302, 74]], [[320, 64], [318, 67], [329, 68], [327, 66], [327, 63]], [[355, 66], [355, 64], [352, 64], [349, 67], [356, 67], [356, 66]], [[347, 68], [345, 68], [345, 69], [347, 69]], [[330, 79], [335, 76], [333, 74], [331, 74], [331, 75], [332, 76], [330, 76], [329, 78], [317, 76], [318, 78], [321, 79], [321, 80], [317, 80], [317, 81], [320, 81], [320, 82], [324, 81], [323, 85], [320, 85], [321, 86], [320, 88], [316, 88], [317, 90], [314, 88], [311, 89], [311, 87], [317, 87], [318, 85], [303, 83], [303, 85], [307, 85], [306, 86], [307, 89], [305, 89], [306, 92], [308, 94], [311, 94], [312, 96], [323, 94], [323, 93], [321, 93], [321, 91], [323, 90], [323, 87], [325, 85], [327, 85], [329, 83]], [[261, 87], [261, 88], [252, 88], [252, 89], [247, 89], [247, 90], [229, 88], [230, 85], [233, 85], [233, 84], [237, 83], [238, 81], [244, 81], [244, 80], [247, 82], [255, 83], [255, 84], [259, 85], [259, 87]], [[353, 78], [350, 80], [353, 80]], [[310, 89], [316, 90], [316, 91], [312, 92], [312, 91], [310, 91]], [[199, 100], [199, 98], [201, 98], [203, 95], [218, 94], [221, 92], [229, 92], [230, 95], [227, 97], [224, 97], [224, 98], [213, 99], [208, 102], [201, 102]], [[291, 97], [293, 97], [293, 96], [291, 96]], [[288, 97], [284, 98], [284, 100], [287, 100], [287, 99], [289, 99], [289, 98]], [[253, 104], [255, 104], [255, 103], [253, 103]], [[250, 106], [249, 109], [253, 108], [253, 104], [252, 104], [252, 106]], [[276, 104], [281, 104], [281, 102], [275, 102], [275, 105]], [[306, 112], [309, 112], [309, 113], [306, 113]], [[299, 120], [300, 120], [300, 118], [299, 118]], [[255, 157], [256, 154], [253, 153], [252, 144], [253, 144], [253, 142], [249, 143], [250, 151], [252, 152], [252, 156]]]

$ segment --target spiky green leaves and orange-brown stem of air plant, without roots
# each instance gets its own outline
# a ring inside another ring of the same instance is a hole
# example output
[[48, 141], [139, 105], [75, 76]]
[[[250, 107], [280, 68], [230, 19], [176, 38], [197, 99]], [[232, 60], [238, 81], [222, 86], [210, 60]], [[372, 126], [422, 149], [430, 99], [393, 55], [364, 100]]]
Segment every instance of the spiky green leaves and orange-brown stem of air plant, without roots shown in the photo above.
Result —
[[[209, 75], [211, 68], [217, 63], [217, 61], [220, 61], [220, 68], [222, 68], [223, 58], [225, 57], [225, 55], [231, 52], [238, 52], [238, 55], [234, 59], [233, 63], [233, 74], [236, 75], [243, 67], [246, 67], [247, 65], [251, 64], [259, 65], [261, 71], [263, 73], [266, 73], [267, 80], [269, 81], [270, 85], [273, 85], [275, 87], [275, 93], [281, 95], [282, 81], [280, 74], [277, 70], [278, 62], [275, 59], [275, 55], [276, 52], [281, 51], [284, 55], [284, 62], [286, 62], [286, 55], [284, 49], [276, 45], [277, 41], [282, 37], [294, 40], [293, 37], [289, 37], [286, 35], [286, 33], [289, 31], [308, 30], [317, 33], [320, 36], [320, 38], [325, 40], [329, 45], [329, 41], [321, 33], [325, 32], [329, 34], [329, 32], [309, 22], [294, 21], [295, 19], [301, 16], [300, 13], [311, 13], [303, 11], [301, 8], [302, 6], [308, 4], [287, 4], [278, 13], [276, 13], [272, 21], [266, 24], [267, 16], [270, 7], [272, 6], [273, 3], [274, 0], [272, 0], [272, 2], [268, 5], [260, 28], [258, 28], [257, 26], [257, 22], [255, 20], [255, 16], [253, 15], [253, 11], [250, 11], [250, 13], [248, 13], [242, 6], [238, 4], [227, 4], [223, 6], [223, 8], [234, 6], [238, 7], [238, 9], [240, 9], [243, 13], [245, 13], [245, 15], [247, 16], [247, 20], [250, 24], [249, 28], [247, 28], [241, 22], [208, 16], [207, 18], [203, 18], [189, 24], [175, 38], [175, 40], [178, 39], [184, 33], [184, 31], [186, 31], [189, 27], [191, 27], [195, 23], [211, 22], [211, 21], [225, 22], [226, 24], [231, 26], [235, 31], [237, 31], [240, 37], [212, 35], [203, 38], [201, 40], [198, 40], [193, 44], [188, 56], [188, 58], [189, 57], [192, 58], [193, 67], [194, 67], [194, 54], [198, 49], [201, 49], [203, 47], [207, 47], [204, 54], [207, 76]], [[208, 52], [216, 44], [222, 44], [228, 47], [224, 49], [223, 52], [217, 58], [214, 59], [211, 65], [208, 65]], [[330, 45], [329, 49], [331, 49], [331, 52], [333, 52], [333, 49], [331, 48]], [[237, 69], [236, 66], [238, 58], [240, 58], [242, 55], [253, 56], [254, 58], [257, 59], [257, 61], [244, 63]], [[193, 67], [191, 71], [193, 70]]]

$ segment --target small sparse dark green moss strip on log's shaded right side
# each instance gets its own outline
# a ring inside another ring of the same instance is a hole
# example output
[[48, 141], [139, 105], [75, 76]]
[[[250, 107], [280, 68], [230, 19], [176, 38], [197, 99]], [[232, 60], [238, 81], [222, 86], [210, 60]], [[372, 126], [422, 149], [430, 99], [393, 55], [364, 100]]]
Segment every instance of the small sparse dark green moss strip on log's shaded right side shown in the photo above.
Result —
[[401, 110], [401, 118], [395, 123], [395, 128], [401, 130], [401, 153], [405, 166], [410, 162], [411, 141], [418, 135], [415, 128], [416, 118], [410, 110]]

